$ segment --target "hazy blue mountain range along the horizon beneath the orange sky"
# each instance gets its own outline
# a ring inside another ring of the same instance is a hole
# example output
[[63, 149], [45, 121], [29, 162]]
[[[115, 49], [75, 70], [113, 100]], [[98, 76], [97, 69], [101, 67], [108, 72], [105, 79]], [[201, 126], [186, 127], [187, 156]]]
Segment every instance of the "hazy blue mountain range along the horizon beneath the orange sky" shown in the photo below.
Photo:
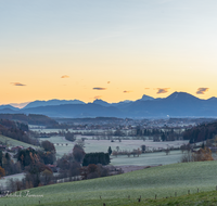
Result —
[[174, 92], [164, 99], [143, 95], [137, 101], [107, 103], [94, 100], [85, 103], [79, 100], [35, 101], [24, 108], [1, 105], [0, 113], [43, 114], [50, 117], [131, 117], [131, 118], [166, 118], [166, 117], [217, 117], [217, 98], [199, 99], [186, 92]]

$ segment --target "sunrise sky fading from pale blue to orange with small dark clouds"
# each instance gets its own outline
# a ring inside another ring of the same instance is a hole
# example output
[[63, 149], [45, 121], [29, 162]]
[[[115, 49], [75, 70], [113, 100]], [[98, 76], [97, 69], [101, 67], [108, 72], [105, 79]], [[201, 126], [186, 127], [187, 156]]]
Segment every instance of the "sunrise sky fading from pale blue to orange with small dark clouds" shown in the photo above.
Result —
[[217, 96], [216, 0], [0, 0], [0, 104]]

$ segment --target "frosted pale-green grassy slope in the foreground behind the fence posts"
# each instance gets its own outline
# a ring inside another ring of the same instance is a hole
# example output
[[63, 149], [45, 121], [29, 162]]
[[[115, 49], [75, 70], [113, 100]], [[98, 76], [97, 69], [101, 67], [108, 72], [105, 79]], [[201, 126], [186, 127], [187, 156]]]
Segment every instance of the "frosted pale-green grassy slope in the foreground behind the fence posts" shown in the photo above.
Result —
[[217, 185], [216, 170], [217, 162], [174, 164], [119, 176], [36, 188], [30, 190], [30, 194], [43, 194], [43, 197], [8, 197], [1, 198], [1, 203], [34, 205], [40, 199], [41, 204], [65, 205], [63, 202], [71, 198], [68, 205], [95, 205], [98, 202], [102, 205], [103, 201], [99, 199], [101, 195], [106, 203], [126, 205], [124, 202], [128, 195], [135, 201], [140, 195], [142, 198], [154, 198], [155, 194], [165, 197], [174, 196], [175, 192], [178, 196], [184, 195], [188, 190], [196, 193], [197, 188], [200, 191], [214, 191]]

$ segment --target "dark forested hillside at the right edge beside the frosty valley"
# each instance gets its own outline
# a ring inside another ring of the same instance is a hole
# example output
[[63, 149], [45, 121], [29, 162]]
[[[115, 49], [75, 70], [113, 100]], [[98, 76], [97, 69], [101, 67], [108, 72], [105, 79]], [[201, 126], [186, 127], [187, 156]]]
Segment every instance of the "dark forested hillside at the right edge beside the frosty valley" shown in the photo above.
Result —
[[213, 139], [217, 134], [217, 121], [209, 124], [202, 124], [193, 127], [183, 133], [184, 140], [190, 140], [190, 143], [202, 142]]

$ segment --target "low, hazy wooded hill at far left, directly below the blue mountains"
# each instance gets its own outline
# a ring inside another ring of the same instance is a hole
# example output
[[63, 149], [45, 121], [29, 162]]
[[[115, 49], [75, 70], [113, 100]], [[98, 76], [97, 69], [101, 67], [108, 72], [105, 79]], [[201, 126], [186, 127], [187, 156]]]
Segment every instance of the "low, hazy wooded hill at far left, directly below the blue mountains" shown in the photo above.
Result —
[[46, 115], [35, 115], [35, 114], [0, 114], [0, 119], [18, 120], [26, 123], [28, 125], [39, 125], [39, 126], [56, 126], [58, 121], [46, 116]]

